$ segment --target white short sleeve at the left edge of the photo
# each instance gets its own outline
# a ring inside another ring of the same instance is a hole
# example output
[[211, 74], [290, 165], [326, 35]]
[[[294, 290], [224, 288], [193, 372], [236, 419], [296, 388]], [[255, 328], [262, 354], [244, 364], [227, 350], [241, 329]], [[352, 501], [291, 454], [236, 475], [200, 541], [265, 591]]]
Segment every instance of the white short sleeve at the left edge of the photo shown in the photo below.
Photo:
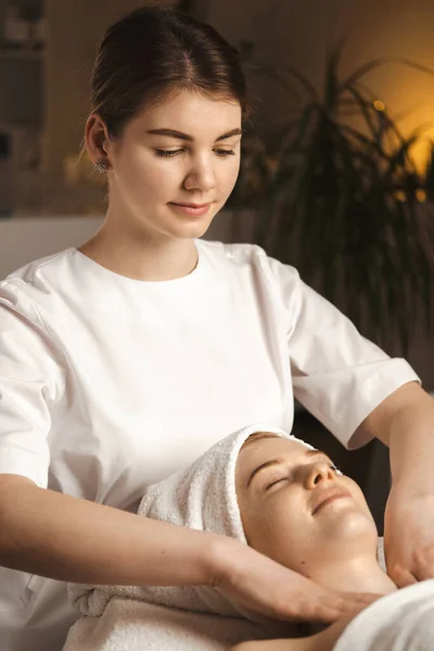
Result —
[[50, 409], [64, 391], [63, 354], [18, 283], [0, 283], [0, 473], [46, 488]]

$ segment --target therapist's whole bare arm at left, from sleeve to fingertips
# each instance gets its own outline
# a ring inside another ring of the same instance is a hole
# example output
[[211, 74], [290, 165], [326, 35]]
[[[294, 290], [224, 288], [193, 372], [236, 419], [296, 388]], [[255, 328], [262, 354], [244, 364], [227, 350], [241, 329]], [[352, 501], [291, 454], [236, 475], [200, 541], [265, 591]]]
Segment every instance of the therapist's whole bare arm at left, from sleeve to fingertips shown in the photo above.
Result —
[[280, 620], [333, 622], [372, 595], [332, 592], [232, 538], [0, 475], [0, 564], [85, 584], [213, 585]]

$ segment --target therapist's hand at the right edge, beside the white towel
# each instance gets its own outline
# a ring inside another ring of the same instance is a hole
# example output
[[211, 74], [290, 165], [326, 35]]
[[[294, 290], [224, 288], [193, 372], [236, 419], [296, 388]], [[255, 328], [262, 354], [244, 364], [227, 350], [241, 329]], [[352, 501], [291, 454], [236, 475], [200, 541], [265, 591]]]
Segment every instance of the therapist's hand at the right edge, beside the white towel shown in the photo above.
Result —
[[434, 495], [392, 486], [384, 518], [387, 574], [399, 588], [434, 578]]

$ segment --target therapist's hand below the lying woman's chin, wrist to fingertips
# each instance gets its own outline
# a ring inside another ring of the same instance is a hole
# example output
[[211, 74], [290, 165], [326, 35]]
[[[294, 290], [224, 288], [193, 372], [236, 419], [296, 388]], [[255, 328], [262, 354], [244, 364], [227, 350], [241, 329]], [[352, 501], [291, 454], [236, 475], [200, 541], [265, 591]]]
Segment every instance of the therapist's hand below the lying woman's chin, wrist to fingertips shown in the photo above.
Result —
[[230, 539], [220, 549], [215, 567], [215, 587], [246, 610], [273, 620], [329, 624], [356, 614], [379, 598], [334, 592]]

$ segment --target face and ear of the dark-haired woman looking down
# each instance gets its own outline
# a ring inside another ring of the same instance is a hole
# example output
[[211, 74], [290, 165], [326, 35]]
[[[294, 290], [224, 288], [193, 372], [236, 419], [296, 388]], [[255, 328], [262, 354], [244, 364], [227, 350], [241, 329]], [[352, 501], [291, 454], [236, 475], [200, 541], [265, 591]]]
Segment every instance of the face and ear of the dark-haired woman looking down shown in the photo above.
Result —
[[[145, 106], [122, 138], [104, 142], [111, 219], [155, 240], [202, 237], [237, 182], [241, 120], [238, 101], [193, 91]], [[92, 143], [102, 128], [92, 114], [87, 143], [94, 161]], [[189, 212], [186, 204], [203, 209]]]

